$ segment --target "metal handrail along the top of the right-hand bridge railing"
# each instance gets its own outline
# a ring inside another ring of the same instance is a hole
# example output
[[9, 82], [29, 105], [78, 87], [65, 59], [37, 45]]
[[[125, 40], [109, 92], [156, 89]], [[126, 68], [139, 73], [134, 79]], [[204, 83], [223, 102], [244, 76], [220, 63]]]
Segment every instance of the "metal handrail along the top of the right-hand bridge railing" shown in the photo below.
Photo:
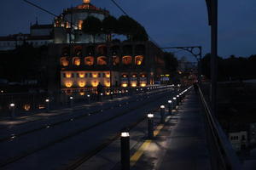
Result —
[[230, 141], [225, 135], [218, 120], [214, 115], [212, 115], [212, 109], [207, 104], [207, 100], [204, 98], [201, 88], [198, 89], [201, 96], [201, 101], [207, 113], [208, 125], [211, 128], [214, 142], [217, 144], [218, 154], [221, 156], [221, 161], [224, 163], [224, 168], [227, 170], [241, 170], [241, 162], [239, 161], [238, 156], [236, 156], [235, 150], [233, 150], [232, 145], [230, 144]]

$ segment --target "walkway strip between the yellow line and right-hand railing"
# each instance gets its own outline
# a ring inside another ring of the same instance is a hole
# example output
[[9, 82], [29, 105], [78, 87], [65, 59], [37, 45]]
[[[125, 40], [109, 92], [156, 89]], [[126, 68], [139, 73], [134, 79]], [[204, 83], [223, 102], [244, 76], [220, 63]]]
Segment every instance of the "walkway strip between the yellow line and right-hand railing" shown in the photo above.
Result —
[[143, 156], [131, 169], [211, 169], [201, 101], [194, 91], [143, 149]]

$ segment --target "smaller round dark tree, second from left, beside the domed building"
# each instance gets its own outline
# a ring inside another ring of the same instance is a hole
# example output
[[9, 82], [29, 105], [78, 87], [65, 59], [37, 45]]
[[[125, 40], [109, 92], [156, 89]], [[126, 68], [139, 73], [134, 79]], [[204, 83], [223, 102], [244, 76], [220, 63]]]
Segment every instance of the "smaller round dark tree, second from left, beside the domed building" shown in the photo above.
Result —
[[111, 41], [112, 34], [117, 32], [118, 20], [113, 16], [109, 15], [102, 20], [102, 31], [107, 34], [107, 40]]

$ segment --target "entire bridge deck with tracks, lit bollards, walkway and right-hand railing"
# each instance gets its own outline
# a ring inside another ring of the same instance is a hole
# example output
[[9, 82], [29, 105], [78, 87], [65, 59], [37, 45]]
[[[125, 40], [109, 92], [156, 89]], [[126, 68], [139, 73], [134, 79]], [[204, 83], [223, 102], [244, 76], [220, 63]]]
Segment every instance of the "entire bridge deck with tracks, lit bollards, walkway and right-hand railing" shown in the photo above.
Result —
[[200, 88], [1, 118], [0, 132], [0, 169], [242, 169]]

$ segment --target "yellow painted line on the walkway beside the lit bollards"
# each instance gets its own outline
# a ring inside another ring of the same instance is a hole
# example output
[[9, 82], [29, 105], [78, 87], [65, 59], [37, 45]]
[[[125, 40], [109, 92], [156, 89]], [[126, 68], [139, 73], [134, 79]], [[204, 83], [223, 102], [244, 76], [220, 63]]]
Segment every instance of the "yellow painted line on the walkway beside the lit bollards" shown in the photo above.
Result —
[[[168, 122], [170, 118], [171, 116], [167, 116], [166, 122]], [[163, 127], [164, 125], [162, 124], [157, 126], [156, 129], [154, 130], [154, 136], [157, 136]], [[140, 159], [140, 157], [143, 156], [144, 151], [148, 150], [148, 146], [149, 144], [151, 144], [151, 142], [152, 140], [145, 140], [144, 143], [139, 147], [139, 149], [133, 154], [133, 156], [131, 156], [131, 167], [133, 167], [136, 164], [136, 162]]]

